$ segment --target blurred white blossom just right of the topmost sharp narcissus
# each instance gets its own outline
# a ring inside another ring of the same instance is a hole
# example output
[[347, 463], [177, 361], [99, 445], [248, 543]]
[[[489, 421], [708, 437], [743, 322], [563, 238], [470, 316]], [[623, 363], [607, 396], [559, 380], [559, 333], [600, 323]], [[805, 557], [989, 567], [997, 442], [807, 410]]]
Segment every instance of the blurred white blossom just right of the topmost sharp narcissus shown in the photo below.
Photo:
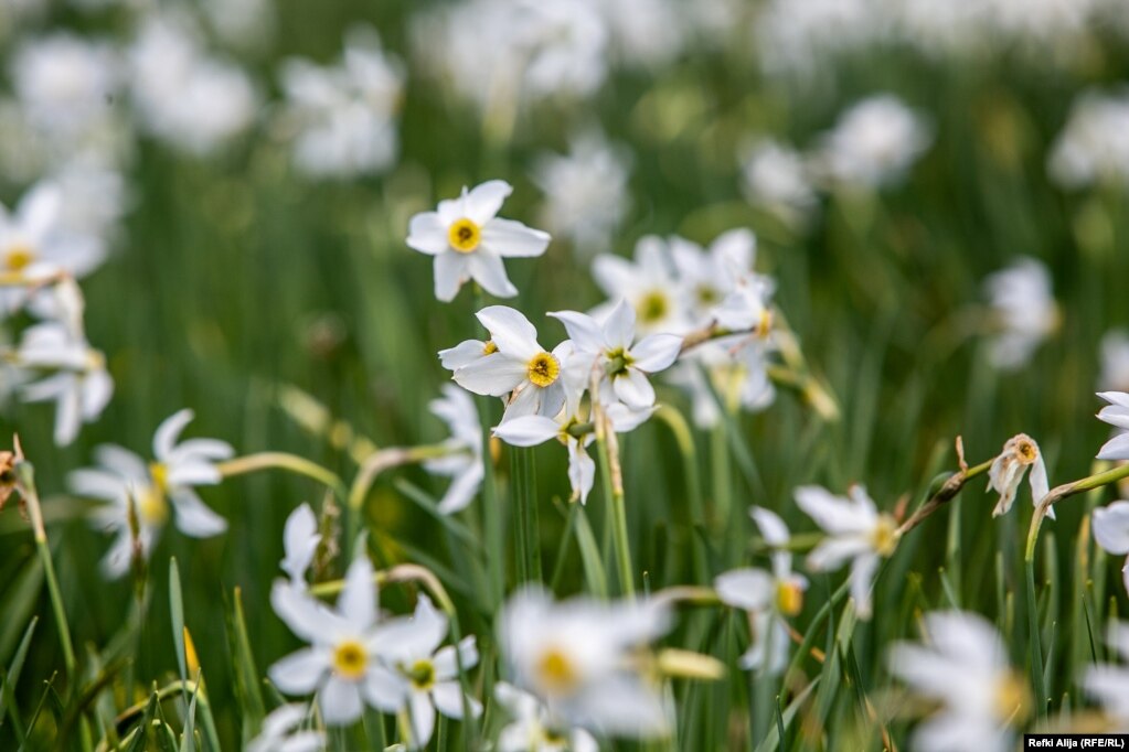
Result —
[[544, 222], [581, 256], [604, 250], [630, 203], [628, 159], [598, 133], [586, 133], [567, 156], [543, 154], [533, 182], [545, 194]]

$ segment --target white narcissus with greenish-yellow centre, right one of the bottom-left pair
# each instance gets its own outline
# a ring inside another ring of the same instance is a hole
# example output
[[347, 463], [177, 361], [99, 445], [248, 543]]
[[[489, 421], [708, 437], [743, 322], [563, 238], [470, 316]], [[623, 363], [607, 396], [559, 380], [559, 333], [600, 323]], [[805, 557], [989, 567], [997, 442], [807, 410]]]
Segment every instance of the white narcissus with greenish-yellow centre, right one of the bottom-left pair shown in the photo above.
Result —
[[436, 710], [462, 720], [465, 699], [472, 715], [482, 714], [478, 700], [464, 698], [458, 681], [460, 663], [466, 671], [479, 662], [474, 636], [464, 637], [457, 648], [454, 645], [440, 648], [448, 628], [447, 617], [427, 595], [420, 595], [415, 614], [390, 622], [383, 634], [384, 663], [406, 687], [406, 692], [395, 690], [383, 699], [390, 705], [399, 702], [399, 710], [406, 710], [413, 750], [426, 747], [431, 741]]

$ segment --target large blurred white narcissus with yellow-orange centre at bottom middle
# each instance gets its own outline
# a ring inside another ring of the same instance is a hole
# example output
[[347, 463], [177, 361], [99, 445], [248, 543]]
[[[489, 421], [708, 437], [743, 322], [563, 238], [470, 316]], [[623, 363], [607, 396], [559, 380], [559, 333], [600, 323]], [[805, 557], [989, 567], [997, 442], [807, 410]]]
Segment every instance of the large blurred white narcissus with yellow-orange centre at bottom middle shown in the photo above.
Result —
[[668, 732], [671, 708], [634, 670], [632, 654], [667, 628], [666, 610], [655, 603], [553, 603], [530, 587], [506, 603], [499, 640], [514, 683], [540, 698], [550, 717], [599, 734], [654, 737]]

